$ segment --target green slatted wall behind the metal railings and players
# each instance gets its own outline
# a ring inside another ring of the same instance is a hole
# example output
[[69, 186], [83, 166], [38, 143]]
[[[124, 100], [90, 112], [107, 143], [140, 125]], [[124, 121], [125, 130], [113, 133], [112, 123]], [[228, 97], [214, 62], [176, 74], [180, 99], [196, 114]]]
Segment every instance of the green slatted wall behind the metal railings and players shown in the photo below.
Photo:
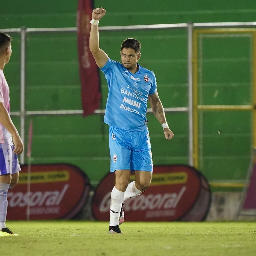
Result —
[[[107, 10], [106, 16], [100, 21], [100, 26], [189, 21], [254, 21], [256, 11], [253, 1], [238, 0], [232, 1], [232, 5], [220, 0], [158, 2], [142, 0], [107, 1], [107, 3], [97, 0], [95, 6], [103, 6]], [[0, 28], [76, 26], [77, 1], [2, 0], [1, 7]], [[13, 37], [13, 55], [4, 71], [10, 86], [11, 111], [18, 111], [20, 37], [14, 33], [10, 34]], [[119, 60], [120, 43], [127, 37], [135, 37], [141, 41], [142, 57], [139, 63], [155, 72], [158, 92], [164, 107], [187, 106], [186, 30], [101, 32], [100, 46], [110, 58]], [[228, 42], [229, 39], [224, 42], [218, 38], [211, 40], [207, 37], [202, 39], [203, 54], [201, 57], [198, 56], [201, 58], [203, 68], [200, 81], [203, 104], [250, 103], [249, 39], [239, 38], [238, 41], [232, 42]], [[216, 47], [218, 44], [219, 47]], [[225, 48], [222, 47], [223, 45]], [[26, 109], [81, 109], [75, 33], [28, 34], [26, 46]], [[239, 46], [242, 50], [237, 49]], [[240, 52], [241, 56], [237, 54]], [[214, 59], [218, 59], [217, 65]], [[216, 67], [219, 69], [215, 70]], [[231, 67], [231, 70], [235, 68], [235, 76], [232, 72], [228, 73], [226, 67]], [[243, 72], [239, 75], [241, 67]], [[105, 104], [107, 84], [102, 73], [100, 76], [103, 104]], [[223, 80], [225, 77], [226, 80]], [[235, 83], [238, 87], [232, 87]], [[218, 97], [214, 98], [216, 88]], [[216, 101], [221, 98], [223, 100]], [[199, 115], [199, 126], [203, 129], [199, 136], [200, 170], [210, 181], [244, 179], [251, 147], [252, 127], [246, 125], [251, 124], [251, 117], [248, 114], [247, 112], [244, 114], [204, 112]], [[175, 133], [172, 141], [164, 139], [160, 124], [153, 115], [148, 115], [154, 164], [186, 164], [188, 163], [188, 115], [173, 113], [166, 116], [169, 126]], [[29, 119], [27, 118], [27, 121]], [[102, 116], [91, 115], [87, 118], [44, 116], [32, 119], [33, 163], [75, 164], [86, 172], [92, 185], [96, 185], [108, 173], [110, 164], [108, 127], [102, 124]], [[13, 120], [19, 127], [19, 119], [13, 118]], [[231, 129], [242, 122], [243, 125], [239, 125], [235, 131]], [[216, 123], [218, 125], [215, 125]], [[217, 130], [222, 132], [221, 137], [216, 136]], [[242, 134], [242, 137], [239, 134]], [[228, 144], [232, 147], [224, 147]]]

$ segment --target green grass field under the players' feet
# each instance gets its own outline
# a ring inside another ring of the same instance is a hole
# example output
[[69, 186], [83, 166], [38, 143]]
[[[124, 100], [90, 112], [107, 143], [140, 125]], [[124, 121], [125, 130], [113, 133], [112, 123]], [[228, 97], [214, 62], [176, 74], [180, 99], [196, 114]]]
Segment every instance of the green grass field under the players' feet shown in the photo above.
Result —
[[0, 237], [5, 255], [256, 255], [256, 222], [125, 222], [122, 235], [108, 223], [9, 221], [20, 236]]

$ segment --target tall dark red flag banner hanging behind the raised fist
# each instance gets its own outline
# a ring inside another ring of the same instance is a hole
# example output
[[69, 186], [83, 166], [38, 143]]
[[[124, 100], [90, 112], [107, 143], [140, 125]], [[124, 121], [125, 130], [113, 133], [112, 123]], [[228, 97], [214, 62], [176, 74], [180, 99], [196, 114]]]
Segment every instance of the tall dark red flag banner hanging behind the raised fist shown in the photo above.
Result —
[[101, 91], [98, 66], [90, 52], [89, 37], [93, 0], [79, 0], [77, 9], [77, 43], [83, 116], [100, 107]]

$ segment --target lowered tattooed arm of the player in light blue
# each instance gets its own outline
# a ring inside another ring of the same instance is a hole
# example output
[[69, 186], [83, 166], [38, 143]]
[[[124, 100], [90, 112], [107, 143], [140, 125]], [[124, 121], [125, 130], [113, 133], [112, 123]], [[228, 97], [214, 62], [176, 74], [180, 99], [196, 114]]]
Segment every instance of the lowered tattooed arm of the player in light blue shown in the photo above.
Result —
[[[150, 102], [150, 106], [151, 106], [152, 111], [153, 111], [154, 115], [156, 116], [157, 120], [161, 124], [166, 123], [164, 108], [159, 99], [157, 92], [155, 94], [149, 95], [149, 102]], [[173, 132], [168, 127], [164, 128], [164, 134], [165, 134], [165, 138], [167, 140], [172, 139], [172, 137], [174, 136]]]

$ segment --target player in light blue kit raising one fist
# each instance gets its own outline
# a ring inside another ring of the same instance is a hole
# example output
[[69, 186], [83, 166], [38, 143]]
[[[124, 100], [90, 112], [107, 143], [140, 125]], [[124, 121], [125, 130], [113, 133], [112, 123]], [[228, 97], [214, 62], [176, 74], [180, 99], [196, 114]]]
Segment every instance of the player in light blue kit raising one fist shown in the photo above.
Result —
[[[166, 122], [164, 109], [157, 93], [154, 73], [138, 64], [140, 42], [128, 38], [121, 45], [121, 63], [111, 60], [99, 48], [99, 20], [106, 10], [92, 12], [90, 51], [108, 83], [108, 98], [104, 122], [109, 125], [111, 172], [115, 172], [115, 186], [111, 192], [110, 234], [121, 234], [119, 225], [124, 221], [123, 202], [138, 196], [149, 186], [153, 162], [146, 118], [147, 101], [162, 124], [165, 138], [174, 134]], [[130, 172], [135, 181], [129, 183]]]

